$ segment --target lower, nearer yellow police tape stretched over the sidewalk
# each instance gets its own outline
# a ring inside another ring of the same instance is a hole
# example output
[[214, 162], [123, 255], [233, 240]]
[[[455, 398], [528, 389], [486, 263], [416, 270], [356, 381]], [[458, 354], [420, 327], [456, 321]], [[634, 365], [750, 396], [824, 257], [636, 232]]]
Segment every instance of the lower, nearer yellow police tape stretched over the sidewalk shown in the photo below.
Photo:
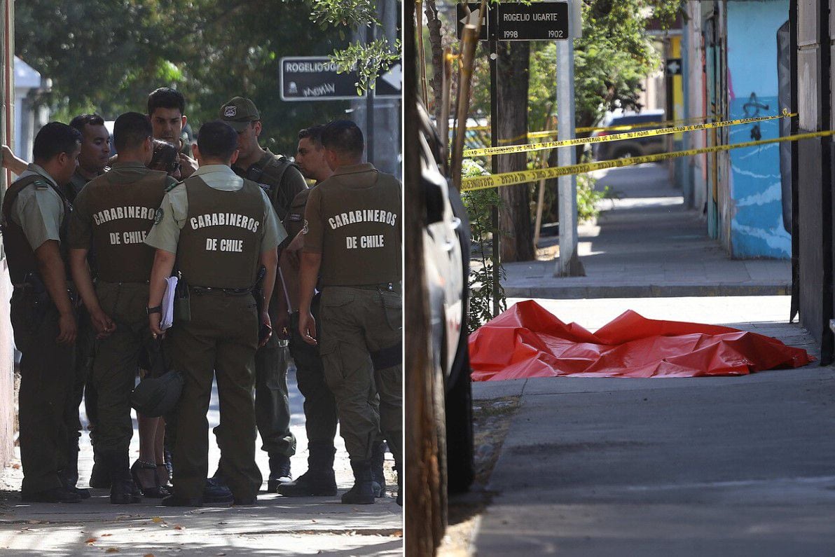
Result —
[[503, 185], [525, 184], [527, 182], [533, 182], [536, 180], [549, 180], [551, 178], [558, 178], [559, 176], [584, 174], [586, 172], [591, 172], [592, 170], [641, 165], [643, 163], [654, 163], [660, 160], [671, 160], [676, 159], [678, 157], [686, 157], [690, 156], [691, 154], [716, 153], [719, 151], [740, 149], [742, 147], [756, 147], [757, 145], [780, 143], [782, 141], [798, 141], [800, 139], [812, 139], [815, 137], [824, 137], [826, 135], [835, 135], [835, 130], [812, 132], [808, 134], [787, 135], [786, 137], [780, 137], [776, 139], [761, 139], [760, 141], [747, 141], [746, 143], [714, 145], [713, 147], [702, 147], [701, 149], [688, 149], [686, 151], [676, 151], [674, 153], [648, 154], [642, 157], [630, 157], [629, 159], [605, 160], [602, 162], [585, 163], [582, 165], [556, 166], [546, 169], [523, 170], [521, 172], [508, 172], [505, 174], [476, 176], [474, 178], [464, 178], [463, 180], [461, 180], [461, 190], [486, 190], [488, 188], [498, 188]]

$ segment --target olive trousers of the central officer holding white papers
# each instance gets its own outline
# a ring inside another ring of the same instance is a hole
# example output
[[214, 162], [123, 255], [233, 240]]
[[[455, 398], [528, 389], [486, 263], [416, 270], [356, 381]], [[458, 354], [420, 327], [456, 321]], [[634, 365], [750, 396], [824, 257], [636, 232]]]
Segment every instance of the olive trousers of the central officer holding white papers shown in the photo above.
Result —
[[167, 345], [185, 384], [176, 415], [174, 487], [178, 497], [200, 499], [209, 471], [209, 411], [217, 376], [220, 425], [215, 428], [222, 470], [232, 494], [248, 498], [261, 488], [256, 466], [256, 301], [251, 295], [191, 292], [191, 318], [171, 328]]

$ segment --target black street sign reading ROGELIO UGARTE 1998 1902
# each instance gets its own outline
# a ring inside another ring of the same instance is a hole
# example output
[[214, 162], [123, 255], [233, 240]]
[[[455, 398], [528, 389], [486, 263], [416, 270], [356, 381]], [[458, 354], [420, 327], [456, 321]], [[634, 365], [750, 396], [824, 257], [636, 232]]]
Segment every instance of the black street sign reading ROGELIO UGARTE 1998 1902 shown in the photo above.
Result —
[[569, 38], [569, 3], [500, 3], [496, 18], [500, 41], [559, 41]]

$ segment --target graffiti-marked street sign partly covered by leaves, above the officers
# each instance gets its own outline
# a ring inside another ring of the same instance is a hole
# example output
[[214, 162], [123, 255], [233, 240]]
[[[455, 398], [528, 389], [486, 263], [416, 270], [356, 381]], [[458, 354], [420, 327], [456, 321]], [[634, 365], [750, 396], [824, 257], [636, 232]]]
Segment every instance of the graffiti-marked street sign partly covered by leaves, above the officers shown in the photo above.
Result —
[[[357, 73], [337, 73], [337, 64], [326, 56], [288, 56], [281, 58], [279, 87], [283, 101], [357, 100]], [[377, 78], [374, 96], [399, 99], [401, 65], [396, 63]]]

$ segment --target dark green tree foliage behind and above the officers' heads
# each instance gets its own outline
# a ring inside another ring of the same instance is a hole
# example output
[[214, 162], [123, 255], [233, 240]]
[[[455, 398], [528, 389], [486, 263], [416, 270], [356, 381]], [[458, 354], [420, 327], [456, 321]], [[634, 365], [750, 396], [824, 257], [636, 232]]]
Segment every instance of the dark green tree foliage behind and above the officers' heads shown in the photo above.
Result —
[[[326, 56], [346, 48], [345, 32], [367, 24], [374, 5], [372, 0], [27, 0], [15, 7], [15, 47], [20, 58], [53, 80], [52, 92], [39, 101], [63, 121], [90, 110], [106, 119], [127, 110], [144, 112], [149, 92], [170, 86], [185, 95], [185, 112], [196, 129], [216, 119], [231, 97], [245, 95], [261, 112], [261, 144], [293, 154], [299, 129], [342, 116], [348, 104], [282, 102], [280, 58]], [[320, 20], [331, 8], [338, 18]]]

